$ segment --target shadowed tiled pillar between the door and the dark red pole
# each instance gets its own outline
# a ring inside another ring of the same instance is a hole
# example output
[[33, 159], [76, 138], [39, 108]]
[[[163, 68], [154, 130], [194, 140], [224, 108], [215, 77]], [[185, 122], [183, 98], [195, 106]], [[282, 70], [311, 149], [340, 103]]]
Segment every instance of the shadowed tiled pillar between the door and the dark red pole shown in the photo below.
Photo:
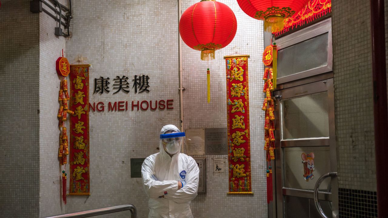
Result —
[[333, 0], [332, 17], [339, 187], [376, 191], [369, 2]]

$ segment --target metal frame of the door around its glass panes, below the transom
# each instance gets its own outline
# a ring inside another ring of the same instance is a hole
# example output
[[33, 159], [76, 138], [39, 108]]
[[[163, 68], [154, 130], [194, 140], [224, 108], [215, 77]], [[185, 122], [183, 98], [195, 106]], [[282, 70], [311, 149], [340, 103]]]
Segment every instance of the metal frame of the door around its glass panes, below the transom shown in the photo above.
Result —
[[[319, 77], [317, 77], [319, 78]], [[281, 105], [280, 101], [294, 97], [310, 95], [318, 92], [327, 91], [327, 106], [329, 116], [329, 138], [312, 138], [307, 140], [283, 140], [281, 141]], [[276, 208], [277, 218], [284, 217], [284, 198], [283, 195], [313, 198], [314, 191], [284, 188], [283, 183], [283, 147], [319, 147], [329, 145], [330, 150], [330, 170], [337, 171], [337, 149], [335, 138], [335, 123], [334, 123], [334, 85], [333, 78], [300, 85], [297, 87], [286, 88], [274, 92], [277, 96], [275, 103], [275, 183], [276, 183]], [[314, 145], [310, 143], [314, 142]], [[320, 200], [332, 201], [333, 204], [333, 218], [338, 216], [338, 179], [331, 178], [332, 186], [331, 193], [319, 192], [318, 198]]]

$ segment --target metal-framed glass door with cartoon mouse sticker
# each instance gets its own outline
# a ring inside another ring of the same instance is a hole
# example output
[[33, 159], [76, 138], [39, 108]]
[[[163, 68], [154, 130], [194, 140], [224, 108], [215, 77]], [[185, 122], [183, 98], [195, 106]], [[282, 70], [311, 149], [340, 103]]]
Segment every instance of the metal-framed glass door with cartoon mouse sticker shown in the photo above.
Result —
[[[316, 181], [336, 172], [333, 79], [274, 92], [275, 178], [278, 218], [317, 217]], [[318, 199], [328, 217], [338, 211], [336, 178], [320, 184]]]

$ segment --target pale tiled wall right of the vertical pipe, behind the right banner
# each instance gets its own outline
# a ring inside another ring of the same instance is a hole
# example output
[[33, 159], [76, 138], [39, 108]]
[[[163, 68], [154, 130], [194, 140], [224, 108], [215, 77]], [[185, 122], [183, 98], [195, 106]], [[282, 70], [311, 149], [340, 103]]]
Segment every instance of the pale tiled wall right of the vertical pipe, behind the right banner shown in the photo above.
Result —
[[[182, 12], [197, 1], [183, 1]], [[246, 15], [236, 1], [219, 0], [228, 5], [237, 18], [237, 33], [225, 48], [215, 52], [215, 60], [209, 61], [211, 75], [211, 102], [206, 102], [207, 61], [201, 61], [200, 52], [182, 43], [184, 75], [184, 128], [226, 127], [226, 71], [223, 56], [236, 51], [249, 54], [249, 113], [251, 129], [252, 191], [254, 195], [228, 195], [228, 171], [214, 173], [214, 158], [206, 156], [207, 193], [198, 194], [192, 201], [194, 217], [267, 217], [265, 177], [265, 152], [263, 151], [263, 22]], [[227, 161], [225, 161], [227, 166]]]

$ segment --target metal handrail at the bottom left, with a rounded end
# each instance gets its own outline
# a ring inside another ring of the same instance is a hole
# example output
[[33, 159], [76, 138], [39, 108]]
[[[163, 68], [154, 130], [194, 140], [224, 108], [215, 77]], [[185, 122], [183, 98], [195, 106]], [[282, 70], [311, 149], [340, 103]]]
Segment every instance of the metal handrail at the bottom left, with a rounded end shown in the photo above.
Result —
[[78, 212], [66, 213], [66, 214], [55, 215], [55, 216], [46, 216], [43, 218], [83, 218], [83, 217], [98, 216], [98, 215], [103, 215], [107, 213], [116, 213], [116, 212], [127, 211], [127, 210], [131, 211], [131, 218], [137, 218], [136, 208], [132, 204], [125, 204], [120, 206], [100, 208], [100, 209], [94, 209], [94, 210], [78, 211]]

